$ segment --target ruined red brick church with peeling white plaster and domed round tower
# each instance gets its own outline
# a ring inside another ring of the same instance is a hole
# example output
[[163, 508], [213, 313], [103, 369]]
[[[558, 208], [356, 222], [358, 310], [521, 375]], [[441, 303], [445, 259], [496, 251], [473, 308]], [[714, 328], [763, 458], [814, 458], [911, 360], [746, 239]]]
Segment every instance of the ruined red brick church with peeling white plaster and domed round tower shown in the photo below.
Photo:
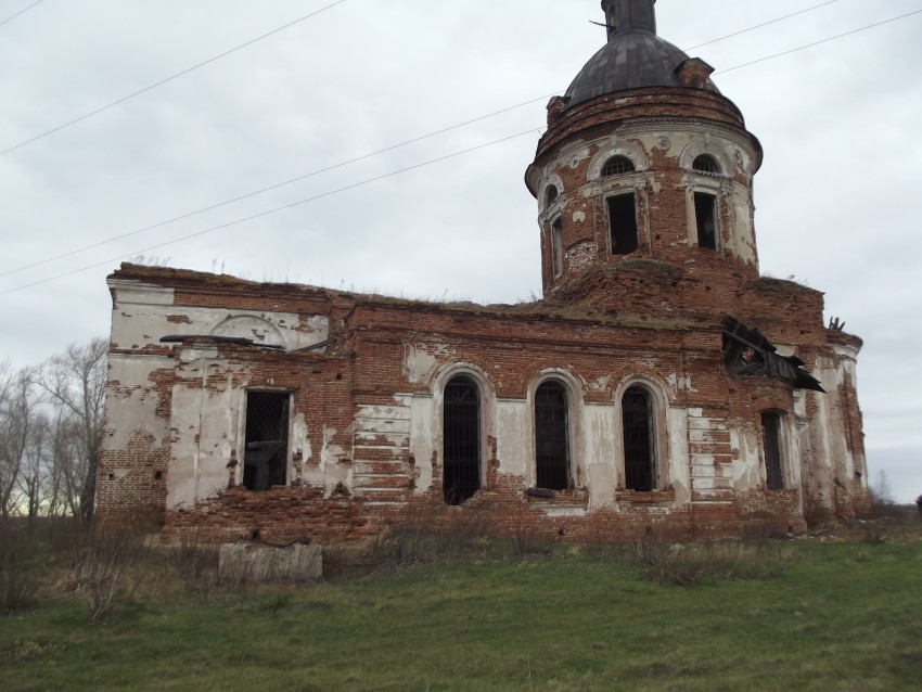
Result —
[[759, 275], [761, 146], [654, 2], [604, 0], [607, 43], [548, 105], [542, 299], [110, 275], [98, 517], [344, 541], [424, 508], [580, 540], [860, 511], [861, 341]]

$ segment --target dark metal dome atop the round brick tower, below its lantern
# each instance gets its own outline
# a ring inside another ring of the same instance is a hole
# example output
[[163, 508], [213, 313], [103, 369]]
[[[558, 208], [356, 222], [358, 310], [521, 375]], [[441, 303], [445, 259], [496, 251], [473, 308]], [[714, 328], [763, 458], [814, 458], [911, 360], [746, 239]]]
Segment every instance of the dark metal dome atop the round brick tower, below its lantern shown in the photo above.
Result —
[[567, 105], [625, 89], [681, 87], [676, 68], [687, 60], [684, 52], [652, 31], [618, 31], [569, 85]]

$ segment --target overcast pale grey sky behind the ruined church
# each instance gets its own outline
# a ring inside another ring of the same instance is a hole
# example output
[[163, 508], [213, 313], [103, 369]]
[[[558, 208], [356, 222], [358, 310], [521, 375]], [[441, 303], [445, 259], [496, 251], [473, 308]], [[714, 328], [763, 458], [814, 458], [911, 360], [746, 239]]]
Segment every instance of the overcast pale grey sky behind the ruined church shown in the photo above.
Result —
[[[0, 151], [334, 0], [42, 0], [14, 16], [34, 3], [0, 0], [0, 22], [13, 17], [0, 24]], [[731, 68], [920, 10], [920, 0], [657, 3], [660, 35], [716, 67], [765, 148], [763, 272], [824, 291], [827, 319], [865, 339], [871, 475], [885, 471], [900, 501], [922, 492], [922, 14]], [[7, 151], [0, 360], [38, 363], [107, 334], [105, 277], [137, 256], [408, 297], [539, 296], [537, 205], [523, 175], [548, 97], [604, 43], [589, 23], [602, 20], [598, 0], [344, 0]]]

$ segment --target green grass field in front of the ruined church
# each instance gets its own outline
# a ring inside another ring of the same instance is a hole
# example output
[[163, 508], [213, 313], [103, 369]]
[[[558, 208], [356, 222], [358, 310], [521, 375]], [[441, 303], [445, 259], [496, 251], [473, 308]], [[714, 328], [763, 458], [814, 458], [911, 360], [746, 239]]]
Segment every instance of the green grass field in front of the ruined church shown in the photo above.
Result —
[[567, 546], [243, 590], [149, 555], [108, 624], [60, 589], [0, 618], [0, 689], [922, 689], [922, 542], [787, 546], [693, 588]]

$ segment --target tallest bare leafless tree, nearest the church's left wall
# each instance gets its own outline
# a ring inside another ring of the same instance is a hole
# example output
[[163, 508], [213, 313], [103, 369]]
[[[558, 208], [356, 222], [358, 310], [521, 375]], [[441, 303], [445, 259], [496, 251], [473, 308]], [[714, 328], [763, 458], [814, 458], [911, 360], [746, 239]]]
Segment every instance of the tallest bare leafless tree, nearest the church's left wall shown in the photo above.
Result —
[[[79, 516], [89, 523], [93, 517], [95, 477], [99, 465], [100, 430], [105, 398], [107, 343], [94, 338], [88, 344], [71, 344], [51, 358], [37, 373], [36, 382], [61, 407], [61, 414], [73, 417], [73, 432], [79, 441], [84, 469], [79, 488]], [[62, 448], [63, 449], [63, 448]], [[67, 459], [62, 454], [57, 462]], [[73, 475], [73, 469], [71, 470]]]

